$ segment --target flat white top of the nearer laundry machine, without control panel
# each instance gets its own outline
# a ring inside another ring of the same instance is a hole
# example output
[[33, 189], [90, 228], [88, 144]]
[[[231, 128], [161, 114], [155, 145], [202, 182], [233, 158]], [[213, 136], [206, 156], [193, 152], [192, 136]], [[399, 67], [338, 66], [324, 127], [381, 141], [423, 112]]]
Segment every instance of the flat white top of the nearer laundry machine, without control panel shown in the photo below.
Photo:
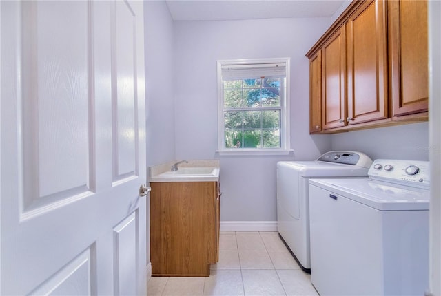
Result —
[[309, 184], [380, 211], [428, 210], [429, 190], [369, 179], [311, 179]]

